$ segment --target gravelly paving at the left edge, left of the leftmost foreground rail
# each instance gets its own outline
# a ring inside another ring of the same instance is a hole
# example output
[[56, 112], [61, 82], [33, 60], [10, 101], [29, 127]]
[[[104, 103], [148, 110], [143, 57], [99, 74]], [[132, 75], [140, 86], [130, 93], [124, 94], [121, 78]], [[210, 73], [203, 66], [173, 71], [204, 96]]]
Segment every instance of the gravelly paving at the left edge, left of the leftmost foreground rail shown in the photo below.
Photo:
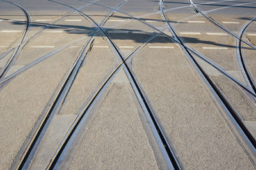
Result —
[[3, 169], [11, 166], [37, 118], [74, 62], [76, 53], [76, 50], [64, 50], [1, 86], [0, 167]]

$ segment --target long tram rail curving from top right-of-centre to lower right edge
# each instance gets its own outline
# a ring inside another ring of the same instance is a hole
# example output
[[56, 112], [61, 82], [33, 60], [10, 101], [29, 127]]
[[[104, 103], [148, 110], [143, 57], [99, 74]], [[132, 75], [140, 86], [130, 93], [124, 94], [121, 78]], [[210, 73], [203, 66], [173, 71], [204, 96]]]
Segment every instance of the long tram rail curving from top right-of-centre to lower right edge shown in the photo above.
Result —
[[[166, 20], [166, 23], [168, 23], [168, 20], [163, 11], [163, 0], [159, 1], [159, 6], [160, 6], [160, 10], [162, 12], [164, 20]], [[236, 112], [236, 110], [234, 110], [233, 106], [228, 102], [226, 97], [223, 96], [223, 94], [220, 92], [218, 87], [216, 87], [216, 85], [214, 85], [214, 82], [207, 75], [207, 73], [205, 73], [204, 69], [202, 69], [200, 64], [198, 64], [198, 62], [196, 62], [193, 55], [191, 55], [191, 53], [189, 52], [188, 48], [186, 48], [186, 46], [184, 45], [182, 40], [179, 38], [179, 36], [177, 36], [177, 33], [175, 31], [173, 31], [172, 26], [169, 23], [168, 23], [168, 25], [170, 28], [169, 30], [173, 34], [174, 38], [180, 42], [179, 44], [180, 44], [180, 47], [182, 48], [182, 50], [184, 50], [186, 55], [189, 57], [189, 60], [191, 60], [191, 62], [193, 63], [193, 66], [195, 66], [198, 73], [202, 76], [205, 83], [208, 85], [209, 89], [211, 89], [211, 91], [214, 94], [214, 96], [216, 97], [216, 99], [218, 99], [218, 101], [221, 103], [221, 106], [226, 111], [230, 120], [232, 120], [232, 123], [236, 126], [237, 131], [240, 132], [241, 136], [246, 141], [246, 144], [250, 147], [250, 150], [252, 150], [253, 154], [256, 155], [256, 141], [253, 138], [250, 131], [248, 131], [247, 127], [243, 124], [243, 120], [241, 120], [241, 118], [239, 117], [239, 114]], [[251, 161], [253, 162], [253, 159], [251, 159]], [[255, 164], [255, 162], [253, 162], [253, 164]]]

